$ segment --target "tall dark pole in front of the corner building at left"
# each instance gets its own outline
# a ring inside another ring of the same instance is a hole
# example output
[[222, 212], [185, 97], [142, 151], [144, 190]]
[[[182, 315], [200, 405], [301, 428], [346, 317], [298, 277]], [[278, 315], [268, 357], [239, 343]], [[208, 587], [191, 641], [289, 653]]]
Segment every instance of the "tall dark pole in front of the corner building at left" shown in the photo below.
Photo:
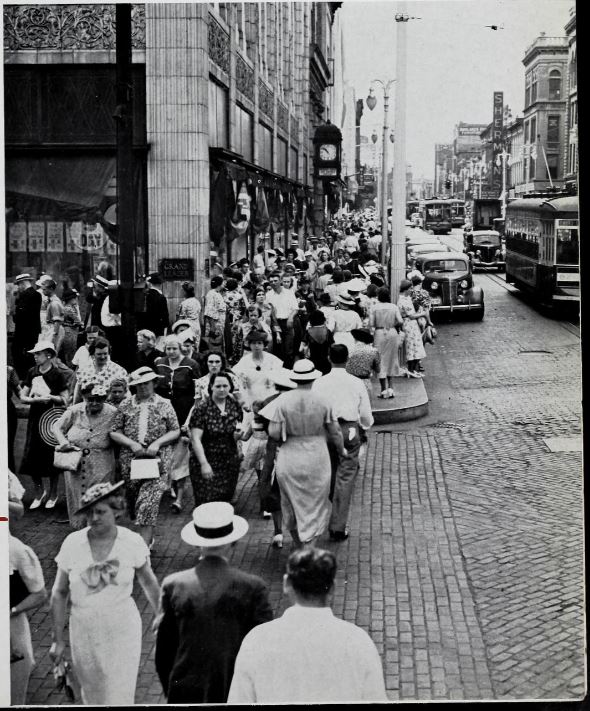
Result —
[[135, 353], [135, 195], [133, 192], [133, 91], [131, 78], [131, 5], [115, 6], [117, 62], [117, 224], [119, 237], [119, 279], [121, 325], [128, 354], [128, 368]]

